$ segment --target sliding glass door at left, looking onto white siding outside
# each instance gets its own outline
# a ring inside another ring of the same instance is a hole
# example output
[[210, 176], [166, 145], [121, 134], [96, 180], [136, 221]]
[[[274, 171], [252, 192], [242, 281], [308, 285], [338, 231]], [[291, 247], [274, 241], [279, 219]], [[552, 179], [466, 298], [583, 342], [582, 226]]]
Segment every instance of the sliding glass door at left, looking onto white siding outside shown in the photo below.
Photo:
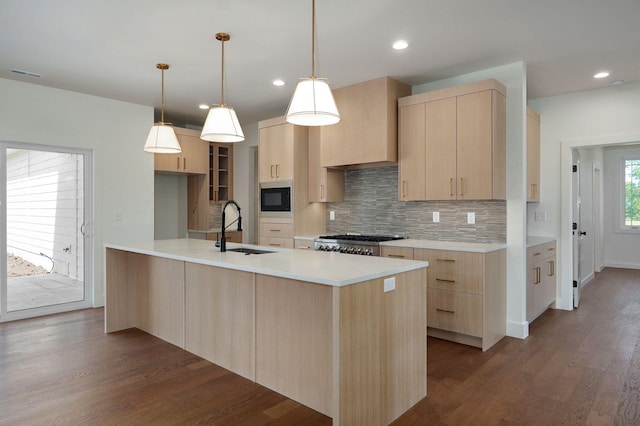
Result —
[[0, 162], [0, 321], [91, 306], [91, 152], [0, 143]]

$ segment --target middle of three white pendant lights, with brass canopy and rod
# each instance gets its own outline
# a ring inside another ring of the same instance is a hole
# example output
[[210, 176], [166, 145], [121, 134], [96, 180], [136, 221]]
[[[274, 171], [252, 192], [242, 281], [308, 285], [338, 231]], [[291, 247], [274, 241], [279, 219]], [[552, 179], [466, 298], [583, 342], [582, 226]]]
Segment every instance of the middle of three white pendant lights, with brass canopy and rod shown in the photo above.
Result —
[[222, 100], [220, 105], [209, 109], [207, 119], [202, 127], [200, 139], [209, 142], [242, 142], [244, 133], [240, 127], [236, 112], [224, 103], [224, 42], [231, 36], [227, 33], [216, 34], [216, 39], [222, 42]]

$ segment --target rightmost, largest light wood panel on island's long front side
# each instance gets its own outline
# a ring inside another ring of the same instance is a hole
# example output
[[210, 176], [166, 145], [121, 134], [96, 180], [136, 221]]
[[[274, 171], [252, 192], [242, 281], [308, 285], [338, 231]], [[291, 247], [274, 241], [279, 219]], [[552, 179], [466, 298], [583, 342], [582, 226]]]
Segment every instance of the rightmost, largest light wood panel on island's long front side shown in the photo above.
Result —
[[333, 417], [333, 287], [256, 275], [256, 382]]

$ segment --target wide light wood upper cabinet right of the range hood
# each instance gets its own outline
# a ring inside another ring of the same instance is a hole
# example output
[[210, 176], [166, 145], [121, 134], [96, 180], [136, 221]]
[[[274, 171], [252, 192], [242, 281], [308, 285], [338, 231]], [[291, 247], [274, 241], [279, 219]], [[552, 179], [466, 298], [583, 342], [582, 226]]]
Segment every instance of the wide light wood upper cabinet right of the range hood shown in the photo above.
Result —
[[506, 88], [496, 80], [401, 98], [398, 198], [503, 200]]

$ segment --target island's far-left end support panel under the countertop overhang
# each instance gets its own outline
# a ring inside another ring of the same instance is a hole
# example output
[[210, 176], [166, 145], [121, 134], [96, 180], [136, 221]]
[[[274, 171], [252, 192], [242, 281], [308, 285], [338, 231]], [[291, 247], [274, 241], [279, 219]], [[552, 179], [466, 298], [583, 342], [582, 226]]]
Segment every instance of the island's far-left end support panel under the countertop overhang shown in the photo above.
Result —
[[105, 250], [105, 333], [136, 326], [136, 288], [132, 276], [136, 259], [139, 260], [127, 251]]

